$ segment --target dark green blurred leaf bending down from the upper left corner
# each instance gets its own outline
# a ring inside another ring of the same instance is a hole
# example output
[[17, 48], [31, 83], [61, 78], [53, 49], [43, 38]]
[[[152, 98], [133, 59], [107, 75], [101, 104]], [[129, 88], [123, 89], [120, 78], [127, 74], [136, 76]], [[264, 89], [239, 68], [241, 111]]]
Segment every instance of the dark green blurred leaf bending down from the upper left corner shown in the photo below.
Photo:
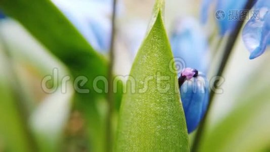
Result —
[[[104, 123], [100, 118], [96, 102], [106, 94], [97, 93], [93, 88], [93, 81], [98, 76], [107, 77], [108, 61], [88, 44], [49, 0], [3, 0], [0, 1], [0, 9], [18, 20], [44, 47], [65, 63], [73, 80], [80, 76], [87, 79], [87, 83], [79, 88], [90, 91], [87, 94], [77, 92], [74, 97], [74, 107], [82, 111], [83, 118], [87, 122], [87, 131], [92, 137], [89, 140], [94, 141], [91, 143], [91, 150], [103, 149]], [[105, 86], [97, 87], [103, 89]]]

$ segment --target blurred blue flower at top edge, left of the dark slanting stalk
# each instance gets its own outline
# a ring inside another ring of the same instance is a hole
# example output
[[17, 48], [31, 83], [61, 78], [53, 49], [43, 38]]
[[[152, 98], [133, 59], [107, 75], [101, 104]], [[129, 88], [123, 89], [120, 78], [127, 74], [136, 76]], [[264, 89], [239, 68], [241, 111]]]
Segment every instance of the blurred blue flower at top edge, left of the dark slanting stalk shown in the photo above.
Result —
[[213, 3], [216, 4], [213, 16], [217, 15], [216, 13], [219, 11], [224, 13], [222, 18], [218, 18], [216, 16], [216, 21], [219, 26], [219, 34], [224, 35], [234, 31], [237, 22], [239, 21], [239, 13], [244, 9], [247, 0], [203, 0], [201, 8], [202, 23], [206, 23], [209, 16], [208, 12], [210, 5]]

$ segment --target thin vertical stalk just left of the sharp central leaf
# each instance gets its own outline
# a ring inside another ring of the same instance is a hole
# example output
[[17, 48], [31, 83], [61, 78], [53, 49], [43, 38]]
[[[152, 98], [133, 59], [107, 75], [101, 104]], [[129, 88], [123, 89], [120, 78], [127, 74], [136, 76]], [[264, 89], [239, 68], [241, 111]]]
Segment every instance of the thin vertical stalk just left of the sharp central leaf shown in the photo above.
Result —
[[113, 64], [114, 64], [114, 41], [115, 41], [115, 15], [116, 14], [116, 0], [113, 1], [112, 12], [112, 28], [111, 28], [111, 44], [110, 44], [110, 61], [108, 69], [108, 112], [107, 112], [107, 125], [106, 125], [106, 151], [112, 151], [112, 117], [114, 107], [114, 95], [113, 95]]

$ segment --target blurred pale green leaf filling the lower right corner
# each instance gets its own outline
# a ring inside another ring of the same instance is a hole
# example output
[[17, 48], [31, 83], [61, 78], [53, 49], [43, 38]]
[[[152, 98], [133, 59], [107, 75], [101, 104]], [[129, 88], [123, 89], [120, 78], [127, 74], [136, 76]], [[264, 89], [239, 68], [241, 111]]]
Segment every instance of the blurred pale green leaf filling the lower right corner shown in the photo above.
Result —
[[200, 151], [263, 151], [269, 148], [268, 61], [264, 63], [265, 66], [256, 68], [253, 77], [246, 81], [242, 93], [235, 100], [234, 109], [206, 131]]

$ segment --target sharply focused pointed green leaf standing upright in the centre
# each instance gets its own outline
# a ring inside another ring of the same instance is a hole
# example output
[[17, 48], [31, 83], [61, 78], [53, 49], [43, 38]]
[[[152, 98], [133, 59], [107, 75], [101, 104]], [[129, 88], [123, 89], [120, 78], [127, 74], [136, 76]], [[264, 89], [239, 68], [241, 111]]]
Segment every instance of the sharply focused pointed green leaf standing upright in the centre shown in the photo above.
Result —
[[131, 83], [127, 83], [120, 107], [116, 151], [189, 151], [176, 72], [169, 68], [173, 56], [163, 7], [164, 1], [156, 1], [151, 26], [130, 71]]

